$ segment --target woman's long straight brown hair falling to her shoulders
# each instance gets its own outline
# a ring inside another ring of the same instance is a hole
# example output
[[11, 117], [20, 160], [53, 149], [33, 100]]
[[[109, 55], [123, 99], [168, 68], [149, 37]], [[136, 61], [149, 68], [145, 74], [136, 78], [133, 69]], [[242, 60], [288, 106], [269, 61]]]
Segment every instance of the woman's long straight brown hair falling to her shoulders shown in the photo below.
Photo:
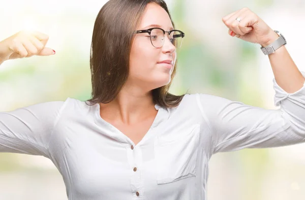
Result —
[[[92, 98], [90, 105], [109, 103], [117, 96], [129, 76], [129, 57], [134, 31], [140, 23], [145, 8], [149, 3], [161, 6], [169, 15], [164, 0], [110, 0], [97, 15], [91, 50], [90, 72], [92, 78]], [[168, 92], [176, 73], [174, 65], [169, 84], [151, 90], [153, 102], [162, 107], [176, 107], [183, 95]]]

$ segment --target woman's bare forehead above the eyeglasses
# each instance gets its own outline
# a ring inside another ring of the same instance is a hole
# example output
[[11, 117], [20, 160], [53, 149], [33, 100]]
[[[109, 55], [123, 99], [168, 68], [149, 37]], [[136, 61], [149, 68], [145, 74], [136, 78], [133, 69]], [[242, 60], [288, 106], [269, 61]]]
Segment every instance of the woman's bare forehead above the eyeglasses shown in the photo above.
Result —
[[161, 6], [155, 3], [147, 4], [138, 28], [146, 29], [149, 27], [155, 27], [154, 25], [151, 26], [151, 24], [159, 25], [165, 30], [173, 29], [173, 25], [167, 12]]

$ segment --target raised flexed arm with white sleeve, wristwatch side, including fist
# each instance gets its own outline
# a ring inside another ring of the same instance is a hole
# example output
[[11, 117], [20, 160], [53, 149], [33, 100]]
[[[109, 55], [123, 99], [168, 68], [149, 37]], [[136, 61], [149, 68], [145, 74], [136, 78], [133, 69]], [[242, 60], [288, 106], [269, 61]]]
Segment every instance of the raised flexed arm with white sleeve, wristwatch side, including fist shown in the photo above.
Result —
[[[248, 8], [223, 18], [229, 34], [265, 47], [279, 38]], [[208, 121], [213, 152], [264, 148], [305, 142], [305, 73], [300, 72], [285, 46], [269, 55], [277, 110], [267, 110], [199, 94], [198, 105]]]

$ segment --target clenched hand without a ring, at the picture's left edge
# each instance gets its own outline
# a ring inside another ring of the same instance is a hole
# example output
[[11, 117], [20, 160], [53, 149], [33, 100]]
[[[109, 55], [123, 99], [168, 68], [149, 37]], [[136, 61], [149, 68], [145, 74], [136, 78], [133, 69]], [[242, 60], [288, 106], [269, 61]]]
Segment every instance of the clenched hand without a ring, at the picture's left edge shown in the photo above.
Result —
[[31, 57], [48, 56], [55, 51], [45, 47], [49, 37], [38, 31], [20, 31], [0, 42], [0, 61]]

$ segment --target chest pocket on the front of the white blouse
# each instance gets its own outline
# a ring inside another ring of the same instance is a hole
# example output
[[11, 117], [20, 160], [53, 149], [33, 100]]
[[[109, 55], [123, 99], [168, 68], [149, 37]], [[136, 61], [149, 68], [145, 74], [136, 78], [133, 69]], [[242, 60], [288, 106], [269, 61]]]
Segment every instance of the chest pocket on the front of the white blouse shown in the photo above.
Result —
[[155, 141], [157, 183], [165, 184], [196, 176], [200, 124], [173, 132]]

